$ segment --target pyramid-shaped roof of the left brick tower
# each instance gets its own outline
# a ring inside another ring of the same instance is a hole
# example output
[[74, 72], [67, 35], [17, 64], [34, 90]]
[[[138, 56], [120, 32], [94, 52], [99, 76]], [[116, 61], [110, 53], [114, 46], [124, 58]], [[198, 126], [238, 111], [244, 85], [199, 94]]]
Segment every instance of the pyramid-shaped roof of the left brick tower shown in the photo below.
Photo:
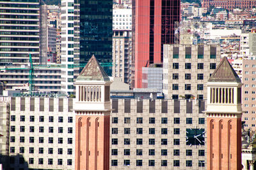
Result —
[[104, 71], [95, 56], [88, 61], [82, 72], [76, 79], [77, 81], [110, 81], [107, 73]]

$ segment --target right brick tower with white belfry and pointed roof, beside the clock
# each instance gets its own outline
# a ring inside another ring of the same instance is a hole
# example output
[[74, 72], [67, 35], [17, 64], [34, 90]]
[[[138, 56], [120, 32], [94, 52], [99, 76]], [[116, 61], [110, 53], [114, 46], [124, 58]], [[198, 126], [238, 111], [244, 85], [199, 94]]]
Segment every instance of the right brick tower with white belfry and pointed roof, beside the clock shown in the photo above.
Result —
[[241, 80], [227, 58], [207, 83], [207, 169], [241, 169]]

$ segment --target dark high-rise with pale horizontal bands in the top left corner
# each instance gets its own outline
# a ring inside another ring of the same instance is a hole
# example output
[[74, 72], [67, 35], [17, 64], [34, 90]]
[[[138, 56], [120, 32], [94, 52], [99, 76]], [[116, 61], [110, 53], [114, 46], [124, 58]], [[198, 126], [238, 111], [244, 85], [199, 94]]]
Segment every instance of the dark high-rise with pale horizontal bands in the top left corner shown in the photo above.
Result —
[[40, 0], [0, 2], [0, 63], [40, 63]]

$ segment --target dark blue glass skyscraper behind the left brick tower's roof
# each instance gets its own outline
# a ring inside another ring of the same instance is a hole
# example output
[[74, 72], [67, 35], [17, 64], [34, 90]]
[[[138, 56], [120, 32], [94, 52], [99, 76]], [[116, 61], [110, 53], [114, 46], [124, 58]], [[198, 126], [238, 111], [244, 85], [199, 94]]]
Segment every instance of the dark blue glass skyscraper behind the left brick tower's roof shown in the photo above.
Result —
[[[80, 1], [80, 64], [95, 55], [100, 63], [112, 62], [112, 0]], [[111, 75], [111, 67], [104, 67]]]

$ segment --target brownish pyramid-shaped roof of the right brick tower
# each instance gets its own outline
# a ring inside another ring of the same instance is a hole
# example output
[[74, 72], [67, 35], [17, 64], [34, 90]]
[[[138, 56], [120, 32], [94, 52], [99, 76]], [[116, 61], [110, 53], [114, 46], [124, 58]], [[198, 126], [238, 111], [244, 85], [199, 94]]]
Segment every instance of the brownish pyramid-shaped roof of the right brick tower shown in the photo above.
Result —
[[237, 75], [236, 71], [228, 62], [227, 58], [223, 58], [220, 65], [212, 73], [208, 82], [237, 82], [241, 83], [241, 79]]

